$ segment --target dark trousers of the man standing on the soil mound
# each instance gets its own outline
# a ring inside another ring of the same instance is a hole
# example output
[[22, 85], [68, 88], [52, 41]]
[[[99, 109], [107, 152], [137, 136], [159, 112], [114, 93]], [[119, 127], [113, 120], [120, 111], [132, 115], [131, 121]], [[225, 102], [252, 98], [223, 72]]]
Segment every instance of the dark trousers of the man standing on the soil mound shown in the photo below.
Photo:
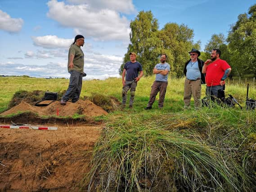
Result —
[[78, 71], [70, 71], [69, 73], [69, 85], [66, 93], [62, 97], [62, 100], [67, 102], [71, 98], [72, 102], [76, 102], [79, 100], [81, 94], [83, 74]]

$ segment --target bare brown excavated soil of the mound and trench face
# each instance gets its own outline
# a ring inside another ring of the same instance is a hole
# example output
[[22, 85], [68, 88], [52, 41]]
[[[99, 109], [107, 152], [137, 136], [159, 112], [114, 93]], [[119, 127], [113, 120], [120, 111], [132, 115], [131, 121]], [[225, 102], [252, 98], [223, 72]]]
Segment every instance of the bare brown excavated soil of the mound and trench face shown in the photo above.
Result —
[[[57, 112], [59, 117], [55, 118]], [[7, 116], [13, 114], [17, 115]], [[85, 118], [73, 120], [74, 114]], [[13, 121], [36, 126], [40, 122], [57, 126], [58, 130], [0, 128], [0, 192], [79, 191], [84, 184], [81, 180], [90, 171], [94, 143], [102, 130], [93, 117], [107, 114], [89, 100], [67, 102], [64, 106], [55, 101], [45, 107], [22, 101], [1, 113], [1, 125]]]

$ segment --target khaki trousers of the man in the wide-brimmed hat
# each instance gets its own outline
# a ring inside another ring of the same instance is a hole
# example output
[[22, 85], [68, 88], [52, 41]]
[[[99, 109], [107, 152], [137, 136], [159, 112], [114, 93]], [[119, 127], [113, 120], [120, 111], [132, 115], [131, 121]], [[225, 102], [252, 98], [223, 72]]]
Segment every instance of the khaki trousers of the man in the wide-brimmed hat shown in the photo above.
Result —
[[191, 96], [193, 95], [194, 98], [194, 106], [201, 107], [201, 80], [188, 80], [185, 79], [184, 83], [184, 106], [190, 106]]

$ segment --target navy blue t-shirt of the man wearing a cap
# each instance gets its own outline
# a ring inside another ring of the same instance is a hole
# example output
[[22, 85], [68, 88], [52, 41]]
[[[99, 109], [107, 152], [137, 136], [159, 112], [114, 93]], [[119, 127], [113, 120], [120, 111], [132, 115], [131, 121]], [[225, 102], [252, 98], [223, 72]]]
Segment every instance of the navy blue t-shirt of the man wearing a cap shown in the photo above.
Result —
[[126, 80], [132, 81], [138, 77], [139, 71], [142, 71], [142, 66], [139, 62], [132, 63], [131, 61], [126, 62], [124, 69], [126, 69]]

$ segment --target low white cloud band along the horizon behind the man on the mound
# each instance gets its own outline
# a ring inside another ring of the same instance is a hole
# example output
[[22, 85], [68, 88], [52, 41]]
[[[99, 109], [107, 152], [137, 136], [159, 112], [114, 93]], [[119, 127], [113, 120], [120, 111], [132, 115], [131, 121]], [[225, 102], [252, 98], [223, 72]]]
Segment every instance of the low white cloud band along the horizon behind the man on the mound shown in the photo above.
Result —
[[[40, 51], [37, 54], [27, 51], [27, 59], [38, 58], [38, 55], [50, 56], [50, 51]], [[26, 62], [27, 63], [27, 62]], [[85, 57], [85, 73], [87, 76], [85, 80], [89, 79], [106, 79], [108, 77], [119, 77], [118, 69], [122, 63], [121, 56], [115, 55], [99, 55], [99, 54], [88, 54]], [[69, 78], [67, 72], [67, 61], [63, 62], [49, 62], [47, 65], [29, 65], [14, 62], [0, 63], [1, 75], [27, 75], [36, 77], [65, 77]]]

